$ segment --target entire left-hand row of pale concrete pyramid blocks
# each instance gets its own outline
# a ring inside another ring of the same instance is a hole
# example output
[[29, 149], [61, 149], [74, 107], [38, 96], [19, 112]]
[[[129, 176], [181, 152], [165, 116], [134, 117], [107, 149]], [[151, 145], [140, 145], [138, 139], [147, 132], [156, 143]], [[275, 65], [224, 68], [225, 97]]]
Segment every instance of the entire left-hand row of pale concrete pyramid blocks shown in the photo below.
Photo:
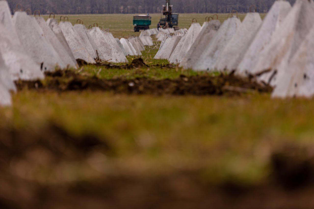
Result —
[[11, 104], [14, 80], [42, 79], [56, 67], [77, 68], [77, 60], [127, 62], [127, 55], [141, 55], [145, 45], [153, 45], [151, 37], [119, 40], [99, 27], [45, 21], [21, 11], [12, 17], [7, 1], [0, 1], [0, 105]]

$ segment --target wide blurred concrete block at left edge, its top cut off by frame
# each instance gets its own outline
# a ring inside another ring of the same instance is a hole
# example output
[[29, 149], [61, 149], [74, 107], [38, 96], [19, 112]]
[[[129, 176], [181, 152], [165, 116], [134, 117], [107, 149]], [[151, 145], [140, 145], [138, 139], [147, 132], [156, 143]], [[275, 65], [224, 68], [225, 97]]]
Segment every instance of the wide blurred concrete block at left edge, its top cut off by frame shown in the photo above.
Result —
[[0, 23], [0, 52], [9, 68], [12, 80], [43, 79], [40, 65], [26, 53], [24, 48], [11, 36], [11, 33]]

